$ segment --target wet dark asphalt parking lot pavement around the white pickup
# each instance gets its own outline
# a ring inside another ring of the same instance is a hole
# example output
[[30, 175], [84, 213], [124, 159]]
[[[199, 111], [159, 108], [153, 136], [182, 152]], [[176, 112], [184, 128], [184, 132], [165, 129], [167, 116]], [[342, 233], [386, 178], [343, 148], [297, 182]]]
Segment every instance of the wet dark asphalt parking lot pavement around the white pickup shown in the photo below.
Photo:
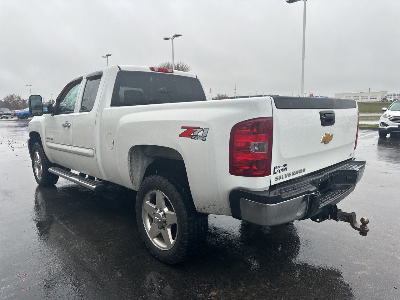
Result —
[[400, 138], [359, 132], [366, 170], [338, 207], [370, 219], [366, 237], [333, 220], [210, 215], [203, 252], [168, 266], [139, 236], [135, 192], [38, 187], [27, 137], [28, 120], [0, 122], [0, 300], [400, 299]]

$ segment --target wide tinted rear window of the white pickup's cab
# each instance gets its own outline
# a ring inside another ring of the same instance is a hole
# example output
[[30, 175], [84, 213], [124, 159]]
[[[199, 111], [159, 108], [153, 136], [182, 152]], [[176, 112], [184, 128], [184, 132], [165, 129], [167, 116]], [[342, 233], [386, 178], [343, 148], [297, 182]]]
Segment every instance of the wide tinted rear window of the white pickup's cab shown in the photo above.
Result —
[[111, 106], [205, 101], [197, 78], [156, 72], [119, 71]]

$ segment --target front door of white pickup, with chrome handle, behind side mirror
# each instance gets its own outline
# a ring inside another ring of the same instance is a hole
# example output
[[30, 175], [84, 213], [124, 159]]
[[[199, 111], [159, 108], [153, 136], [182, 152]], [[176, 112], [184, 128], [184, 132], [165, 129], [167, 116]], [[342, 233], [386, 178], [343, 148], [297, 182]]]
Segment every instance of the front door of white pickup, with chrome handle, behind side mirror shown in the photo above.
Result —
[[69, 82], [57, 97], [54, 112], [46, 120], [46, 154], [63, 167], [76, 170], [72, 153], [72, 130], [76, 99], [83, 77]]

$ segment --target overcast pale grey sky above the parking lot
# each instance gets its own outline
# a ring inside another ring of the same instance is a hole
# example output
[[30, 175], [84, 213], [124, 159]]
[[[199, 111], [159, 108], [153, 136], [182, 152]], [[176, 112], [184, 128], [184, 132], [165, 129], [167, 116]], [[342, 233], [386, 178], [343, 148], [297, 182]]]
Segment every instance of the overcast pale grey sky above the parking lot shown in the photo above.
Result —
[[[204, 90], [300, 92], [302, 2], [0, 0], [0, 98], [55, 98], [110, 64], [192, 66]], [[308, 0], [305, 92], [400, 92], [398, 0]]]

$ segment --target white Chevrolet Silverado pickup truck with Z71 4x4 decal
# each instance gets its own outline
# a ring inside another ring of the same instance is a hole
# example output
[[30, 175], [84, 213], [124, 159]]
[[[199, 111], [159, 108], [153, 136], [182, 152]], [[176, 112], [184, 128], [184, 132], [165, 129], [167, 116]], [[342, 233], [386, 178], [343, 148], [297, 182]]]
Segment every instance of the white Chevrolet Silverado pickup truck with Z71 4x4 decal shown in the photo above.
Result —
[[334, 219], [368, 232], [368, 219], [336, 207], [365, 167], [354, 158], [354, 100], [206, 101], [195, 74], [109, 66], [71, 80], [48, 111], [30, 96], [29, 109], [38, 184], [136, 190], [141, 236], [164, 262], [196, 253], [208, 214], [264, 226]]

